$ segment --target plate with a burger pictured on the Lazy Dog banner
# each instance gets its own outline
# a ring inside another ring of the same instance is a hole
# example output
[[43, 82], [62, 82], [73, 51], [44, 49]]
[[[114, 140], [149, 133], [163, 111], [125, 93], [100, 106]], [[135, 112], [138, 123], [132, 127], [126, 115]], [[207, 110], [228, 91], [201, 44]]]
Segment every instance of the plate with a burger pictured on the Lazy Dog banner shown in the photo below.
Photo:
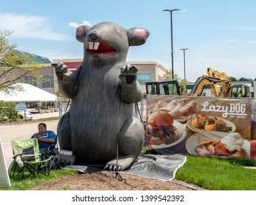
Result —
[[168, 112], [156, 111], [147, 120], [146, 135], [151, 149], [175, 146], [186, 138], [186, 124], [176, 121]]

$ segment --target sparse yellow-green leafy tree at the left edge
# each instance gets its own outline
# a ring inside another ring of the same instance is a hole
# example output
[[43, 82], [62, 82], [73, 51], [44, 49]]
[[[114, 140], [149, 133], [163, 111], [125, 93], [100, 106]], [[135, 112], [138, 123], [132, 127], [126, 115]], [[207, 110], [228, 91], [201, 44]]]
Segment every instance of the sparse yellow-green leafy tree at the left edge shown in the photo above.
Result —
[[15, 50], [16, 43], [10, 43], [10, 30], [0, 30], [0, 90], [7, 90], [10, 85], [25, 75], [37, 74], [42, 64], [34, 62], [33, 55]]

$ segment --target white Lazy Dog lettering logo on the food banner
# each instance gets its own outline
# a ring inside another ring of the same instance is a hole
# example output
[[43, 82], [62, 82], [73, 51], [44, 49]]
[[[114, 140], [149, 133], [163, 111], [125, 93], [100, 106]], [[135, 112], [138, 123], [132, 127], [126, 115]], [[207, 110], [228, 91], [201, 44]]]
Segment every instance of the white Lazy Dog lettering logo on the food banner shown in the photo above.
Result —
[[227, 116], [238, 118], [244, 118], [247, 116], [246, 104], [244, 103], [229, 103], [229, 105], [210, 105], [210, 103], [204, 102], [201, 105], [202, 111], [219, 112], [222, 113], [222, 116], [224, 118], [226, 118]]

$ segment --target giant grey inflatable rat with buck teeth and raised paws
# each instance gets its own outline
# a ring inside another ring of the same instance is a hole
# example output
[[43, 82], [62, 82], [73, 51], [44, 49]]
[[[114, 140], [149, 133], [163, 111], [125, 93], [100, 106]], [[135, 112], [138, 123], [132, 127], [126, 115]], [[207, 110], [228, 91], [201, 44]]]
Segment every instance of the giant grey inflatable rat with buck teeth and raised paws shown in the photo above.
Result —
[[79, 26], [81, 66], [72, 73], [62, 62], [54, 64], [60, 92], [72, 99], [57, 127], [59, 146], [72, 150], [78, 162], [122, 171], [139, 157], [145, 130], [133, 111], [142, 91], [138, 68], [128, 65], [126, 56], [129, 46], [144, 44], [148, 35], [146, 29], [126, 30], [112, 22]]

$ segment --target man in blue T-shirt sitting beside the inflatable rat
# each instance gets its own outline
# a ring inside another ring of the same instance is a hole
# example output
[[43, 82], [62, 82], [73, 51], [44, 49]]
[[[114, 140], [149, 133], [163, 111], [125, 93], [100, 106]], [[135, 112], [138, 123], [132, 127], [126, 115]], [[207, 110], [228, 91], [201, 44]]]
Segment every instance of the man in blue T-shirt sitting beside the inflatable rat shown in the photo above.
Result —
[[40, 123], [38, 124], [38, 133], [34, 133], [31, 138], [37, 138], [40, 153], [45, 153], [49, 146], [55, 146], [56, 134], [47, 130], [45, 123]]

